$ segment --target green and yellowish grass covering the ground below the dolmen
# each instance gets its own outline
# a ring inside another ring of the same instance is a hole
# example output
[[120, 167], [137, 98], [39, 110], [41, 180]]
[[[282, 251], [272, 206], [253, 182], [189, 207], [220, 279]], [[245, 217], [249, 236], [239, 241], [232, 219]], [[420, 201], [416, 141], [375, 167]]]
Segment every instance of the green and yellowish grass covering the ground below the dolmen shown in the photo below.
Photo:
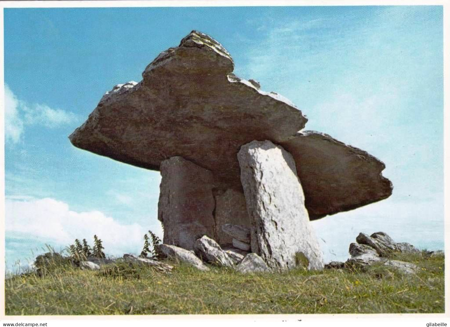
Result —
[[177, 264], [164, 274], [124, 262], [6, 278], [7, 315], [443, 313], [444, 256], [400, 254], [419, 272], [291, 270], [240, 274]]

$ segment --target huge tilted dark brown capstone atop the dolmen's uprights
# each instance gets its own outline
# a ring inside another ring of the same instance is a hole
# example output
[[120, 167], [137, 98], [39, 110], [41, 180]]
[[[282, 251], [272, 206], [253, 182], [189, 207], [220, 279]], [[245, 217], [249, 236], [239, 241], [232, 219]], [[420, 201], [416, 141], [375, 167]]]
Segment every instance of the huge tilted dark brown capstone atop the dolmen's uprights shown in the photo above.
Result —
[[155, 58], [141, 82], [107, 92], [69, 138], [78, 148], [152, 170], [168, 158], [184, 157], [211, 170], [222, 191], [242, 190], [239, 147], [269, 139], [299, 164], [310, 219], [391, 195], [391, 183], [381, 176], [383, 162], [325, 134], [293, 137], [307, 121], [302, 112], [282, 96], [259, 90], [257, 82], [234, 76], [233, 69], [222, 45], [193, 31]]

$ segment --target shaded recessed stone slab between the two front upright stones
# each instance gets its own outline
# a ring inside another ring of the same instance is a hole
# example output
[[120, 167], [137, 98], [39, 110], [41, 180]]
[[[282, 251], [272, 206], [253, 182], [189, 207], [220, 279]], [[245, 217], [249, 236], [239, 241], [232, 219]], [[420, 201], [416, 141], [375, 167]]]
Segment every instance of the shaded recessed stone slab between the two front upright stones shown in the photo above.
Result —
[[[250, 217], [248, 217], [244, 193], [229, 188], [225, 192], [215, 194], [214, 199], [216, 200], [216, 210], [214, 211], [216, 241], [225, 246], [233, 242], [233, 237], [227, 234], [222, 226], [234, 224], [250, 228]], [[239, 237], [236, 238], [239, 239]]]

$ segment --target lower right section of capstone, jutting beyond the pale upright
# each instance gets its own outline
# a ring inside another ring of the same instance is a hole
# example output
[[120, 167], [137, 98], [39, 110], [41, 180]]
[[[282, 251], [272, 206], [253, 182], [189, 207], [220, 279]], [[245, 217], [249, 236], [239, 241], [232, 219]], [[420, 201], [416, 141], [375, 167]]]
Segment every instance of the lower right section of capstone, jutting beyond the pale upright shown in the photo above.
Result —
[[302, 131], [280, 145], [297, 163], [311, 220], [392, 194], [391, 181], [381, 175], [385, 168], [382, 161], [327, 134]]

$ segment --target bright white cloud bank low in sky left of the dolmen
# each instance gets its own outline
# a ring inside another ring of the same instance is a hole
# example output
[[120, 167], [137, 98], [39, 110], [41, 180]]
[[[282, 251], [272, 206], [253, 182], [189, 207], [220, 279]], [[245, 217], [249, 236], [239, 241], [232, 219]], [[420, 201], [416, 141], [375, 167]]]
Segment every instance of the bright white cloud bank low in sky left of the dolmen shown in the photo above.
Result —
[[[92, 244], [94, 234], [103, 241], [107, 255], [121, 256], [126, 252], [139, 253], [146, 230], [139, 224], [123, 224], [99, 211], [75, 212], [61, 201], [51, 198], [5, 201], [6, 233], [22, 233], [30, 238], [72, 244], [75, 238], [86, 238]], [[158, 222], [150, 226], [162, 239]]]

